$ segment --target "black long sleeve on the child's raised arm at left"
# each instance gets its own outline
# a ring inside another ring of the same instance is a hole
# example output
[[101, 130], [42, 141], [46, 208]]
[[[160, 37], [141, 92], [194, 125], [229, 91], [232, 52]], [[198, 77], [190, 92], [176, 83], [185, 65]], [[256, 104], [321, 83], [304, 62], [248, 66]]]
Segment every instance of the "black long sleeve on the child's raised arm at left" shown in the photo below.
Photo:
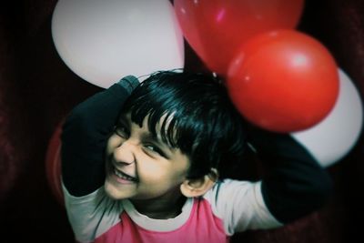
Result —
[[126, 76], [77, 105], [66, 117], [61, 135], [62, 179], [68, 192], [85, 196], [105, 180], [105, 149], [127, 96], [138, 84]]

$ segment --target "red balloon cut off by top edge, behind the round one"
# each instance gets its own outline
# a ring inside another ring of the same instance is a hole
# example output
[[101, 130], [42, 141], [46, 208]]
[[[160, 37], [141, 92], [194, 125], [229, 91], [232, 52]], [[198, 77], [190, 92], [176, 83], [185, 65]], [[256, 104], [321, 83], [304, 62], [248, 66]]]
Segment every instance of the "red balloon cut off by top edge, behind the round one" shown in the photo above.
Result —
[[248, 38], [296, 27], [303, 0], [175, 0], [174, 6], [188, 44], [211, 71], [224, 76]]

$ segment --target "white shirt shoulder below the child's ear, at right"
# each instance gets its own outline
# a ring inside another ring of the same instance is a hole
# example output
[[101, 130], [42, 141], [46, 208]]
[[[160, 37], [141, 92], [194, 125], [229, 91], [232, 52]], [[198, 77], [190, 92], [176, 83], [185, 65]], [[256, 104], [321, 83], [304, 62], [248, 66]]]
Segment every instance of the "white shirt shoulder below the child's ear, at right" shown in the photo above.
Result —
[[204, 196], [214, 214], [224, 222], [228, 235], [247, 229], [281, 226], [269, 212], [261, 193], [261, 181], [225, 179]]

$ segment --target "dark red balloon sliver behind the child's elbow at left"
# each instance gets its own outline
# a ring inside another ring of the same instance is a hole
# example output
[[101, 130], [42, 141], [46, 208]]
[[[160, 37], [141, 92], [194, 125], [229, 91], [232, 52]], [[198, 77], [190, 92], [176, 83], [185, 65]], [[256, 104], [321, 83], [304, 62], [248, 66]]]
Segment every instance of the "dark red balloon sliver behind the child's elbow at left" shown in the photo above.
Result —
[[45, 175], [48, 185], [56, 200], [65, 205], [62, 184], [61, 184], [61, 131], [63, 122], [61, 122], [51, 137], [45, 156]]

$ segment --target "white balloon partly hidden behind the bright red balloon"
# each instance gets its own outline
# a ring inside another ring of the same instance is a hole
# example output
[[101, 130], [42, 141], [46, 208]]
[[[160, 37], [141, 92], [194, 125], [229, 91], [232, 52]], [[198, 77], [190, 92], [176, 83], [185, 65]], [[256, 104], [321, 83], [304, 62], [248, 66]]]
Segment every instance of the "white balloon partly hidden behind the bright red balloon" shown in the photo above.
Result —
[[329, 167], [345, 157], [355, 146], [363, 124], [363, 106], [359, 92], [349, 76], [339, 69], [339, 96], [319, 124], [291, 133], [308, 148], [322, 167]]

